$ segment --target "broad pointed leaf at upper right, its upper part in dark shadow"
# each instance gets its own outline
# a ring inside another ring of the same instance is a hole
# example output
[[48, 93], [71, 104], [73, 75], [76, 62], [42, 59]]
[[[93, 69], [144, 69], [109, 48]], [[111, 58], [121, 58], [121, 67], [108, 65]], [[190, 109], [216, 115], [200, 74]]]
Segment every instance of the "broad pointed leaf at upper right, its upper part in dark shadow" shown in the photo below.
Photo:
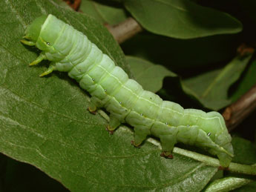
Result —
[[240, 21], [229, 14], [189, 0], [124, 0], [124, 4], [146, 30], [163, 36], [192, 39], [242, 30]]

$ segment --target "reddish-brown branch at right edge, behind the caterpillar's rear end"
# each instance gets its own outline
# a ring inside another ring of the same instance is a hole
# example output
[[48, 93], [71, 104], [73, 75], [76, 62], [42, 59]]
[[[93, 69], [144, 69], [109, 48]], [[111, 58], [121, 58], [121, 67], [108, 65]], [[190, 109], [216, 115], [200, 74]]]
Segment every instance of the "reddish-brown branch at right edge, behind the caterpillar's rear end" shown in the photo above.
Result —
[[256, 108], [256, 85], [247, 93], [240, 97], [237, 102], [234, 102], [223, 112], [223, 117], [226, 121], [226, 126], [229, 131], [233, 130], [243, 119], [246, 119], [250, 113]]

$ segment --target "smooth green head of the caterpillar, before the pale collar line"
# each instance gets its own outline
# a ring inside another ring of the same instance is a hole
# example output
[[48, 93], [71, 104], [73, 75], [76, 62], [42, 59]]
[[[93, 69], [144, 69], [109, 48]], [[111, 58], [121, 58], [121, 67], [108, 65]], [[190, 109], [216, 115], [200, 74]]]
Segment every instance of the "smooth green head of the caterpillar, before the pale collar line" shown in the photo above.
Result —
[[45, 23], [46, 19], [47, 16], [40, 16], [36, 18], [25, 30], [24, 38], [36, 43], [39, 38], [42, 25]]

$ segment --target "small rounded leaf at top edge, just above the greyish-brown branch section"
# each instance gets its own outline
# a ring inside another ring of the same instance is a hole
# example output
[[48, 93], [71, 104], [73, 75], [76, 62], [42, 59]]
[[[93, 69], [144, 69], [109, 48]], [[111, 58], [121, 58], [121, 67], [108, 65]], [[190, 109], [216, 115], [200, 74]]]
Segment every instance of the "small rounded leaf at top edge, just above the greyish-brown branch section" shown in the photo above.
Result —
[[[108, 4], [110, 2], [108, 1]], [[112, 6], [111, 6], [112, 5]], [[127, 19], [127, 14], [122, 7], [115, 6], [116, 4], [101, 4], [96, 1], [83, 0], [80, 5], [80, 10], [83, 13], [93, 16], [94, 19], [103, 24], [119, 24]]]

